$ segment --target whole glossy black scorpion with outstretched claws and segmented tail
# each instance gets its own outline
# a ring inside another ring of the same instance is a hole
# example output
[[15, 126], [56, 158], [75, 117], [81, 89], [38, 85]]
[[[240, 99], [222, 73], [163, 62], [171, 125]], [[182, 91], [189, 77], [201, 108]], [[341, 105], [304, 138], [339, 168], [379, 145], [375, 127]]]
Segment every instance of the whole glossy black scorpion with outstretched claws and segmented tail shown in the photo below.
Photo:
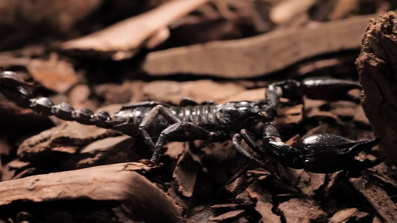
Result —
[[[254, 152], [265, 156], [265, 159], [266, 155], [270, 155], [283, 165], [314, 173], [367, 169], [385, 160], [385, 157], [355, 160], [359, 152], [376, 146], [380, 142], [379, 137], [352, 141], [336, 135], [314, 134], [303, 138], [299, 148], [292, 148], [281, 141], [278, 129], [272, 125], [281, 97], [296, 100], [306, 95], [317, 100], [358, 102], [357, 98], [348, 94], [351, 89], [361, 89], [361, 85], [353, 81], [329, 78], [286, 80], [270, 84], [264, 100], [198, 104], [184, 99], [179, 106], [147, 101], [124, 105], [112, 115], [107, 112], [94, 113], [85, 108], [75, 110], [66, 103], [54, 104], [49, 98], [35, 98], [29, 92], [30, 87], [30, 83], [12, 71], [0, 73], [0, 91], [21, 107], [84, 125], [115, 129], [126, 135], [140, 135], [148, 148], [154, 151], [150, 160], [141, 160], [147, 165], [158, 162], [164, 143], [196, 139], [211, 142], [231, 139], [233, 147], [241, 155], [267, 167], [266, 162], [254, 158], [242, 146], [244, 139]], [[152, 136], [158, 136], [156, 143], [152, 141]], [[256, 145], [255, 137], [263, 138], [262, 146]]]

